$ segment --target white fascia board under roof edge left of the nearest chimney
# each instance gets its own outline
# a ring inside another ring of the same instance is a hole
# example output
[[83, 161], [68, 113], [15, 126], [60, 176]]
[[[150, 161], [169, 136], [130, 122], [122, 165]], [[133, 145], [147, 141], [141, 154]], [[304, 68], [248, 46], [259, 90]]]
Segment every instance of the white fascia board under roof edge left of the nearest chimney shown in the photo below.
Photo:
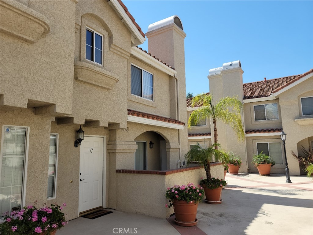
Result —
[[147, 54], [146, 52], [140, 50], [137, 47], [131, 48], [131, 54], [136, 56], [138, 59], [145, 61], [149, 65], [161, 70], [162, 72], [167, 73], [168, 75], [174, 77], [177, 74], [177, 71], [171, 69], [167, 65], [163, 64], [161, 61], [156, 60], [151, 55]]

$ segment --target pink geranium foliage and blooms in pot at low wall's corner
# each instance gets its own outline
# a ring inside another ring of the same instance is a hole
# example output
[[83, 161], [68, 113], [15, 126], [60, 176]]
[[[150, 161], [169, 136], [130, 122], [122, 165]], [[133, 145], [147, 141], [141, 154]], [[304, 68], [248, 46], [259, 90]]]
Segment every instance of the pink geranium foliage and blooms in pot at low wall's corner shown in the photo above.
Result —
[[188, 183], [187, 185], [174, 185], [172, 188], [167, 188], [166, 198], [169, 201], [169, 204], [165, 204], [165, 207], [171, 207], [173, 205], [174, 200], [177, 201], [187, 201], [188, 203], [199, 203], [202, 201], [204, 195], [203, 188], [198, 185], [196, 187], [192, 183]]

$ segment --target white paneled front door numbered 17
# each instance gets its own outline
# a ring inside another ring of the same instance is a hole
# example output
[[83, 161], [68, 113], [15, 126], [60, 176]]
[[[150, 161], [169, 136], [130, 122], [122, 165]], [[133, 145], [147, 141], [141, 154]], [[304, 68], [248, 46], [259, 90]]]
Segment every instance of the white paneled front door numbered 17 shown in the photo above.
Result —
[[85, 137], [80, 146], [79, 212], [102, 205], [103, 138]]

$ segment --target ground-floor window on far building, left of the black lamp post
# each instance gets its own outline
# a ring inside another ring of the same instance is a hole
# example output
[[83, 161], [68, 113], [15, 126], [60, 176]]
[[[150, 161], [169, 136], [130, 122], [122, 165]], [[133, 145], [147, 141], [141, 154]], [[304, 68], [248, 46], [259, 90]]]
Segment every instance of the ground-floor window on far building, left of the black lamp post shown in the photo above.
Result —
[[263, 154], [268, 155], [276, 162], [276, 164], [283, 164], [283, 154], [280, 142], [257, 143], [256, 146], [258, 154], [263, 151]]

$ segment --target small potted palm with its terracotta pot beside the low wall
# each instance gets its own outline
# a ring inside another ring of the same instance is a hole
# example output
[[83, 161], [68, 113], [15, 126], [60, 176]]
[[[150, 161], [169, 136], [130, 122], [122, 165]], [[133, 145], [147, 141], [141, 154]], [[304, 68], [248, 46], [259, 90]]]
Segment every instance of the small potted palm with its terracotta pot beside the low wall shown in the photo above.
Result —
[[228, 154], [221, 149], [216, 149], [216, 146], [220, 147], [219, 144], [214, 143], [207, 149], [203, 149], [201, 145], [197, 143], [197, 146], [193, 147], [185, 154], [187, 164], [198, 163], [204, 166], [206, 179], [202, 179], [200, 184], [204, 188], [206, 196], [205, 202], [210, 204], [220, 204], [222, 202], [222, 189], [223, 186], [226, 185], [225, 180], [216, 179], [211, 176], [210, 162], [213, 161], [213, 159], [224, 162], [228, 157]]

